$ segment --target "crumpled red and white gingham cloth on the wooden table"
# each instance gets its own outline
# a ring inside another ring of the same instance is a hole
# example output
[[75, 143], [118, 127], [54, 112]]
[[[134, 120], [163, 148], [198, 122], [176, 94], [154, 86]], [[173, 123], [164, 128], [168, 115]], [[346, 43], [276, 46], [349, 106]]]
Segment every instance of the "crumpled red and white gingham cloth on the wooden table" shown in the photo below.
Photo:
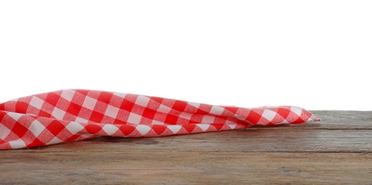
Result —
[[243, 108], [98, 90], [58, 90], [0, 104], [0, 149], [98, 136], [154, 137], [319, 120], [294, 106]]

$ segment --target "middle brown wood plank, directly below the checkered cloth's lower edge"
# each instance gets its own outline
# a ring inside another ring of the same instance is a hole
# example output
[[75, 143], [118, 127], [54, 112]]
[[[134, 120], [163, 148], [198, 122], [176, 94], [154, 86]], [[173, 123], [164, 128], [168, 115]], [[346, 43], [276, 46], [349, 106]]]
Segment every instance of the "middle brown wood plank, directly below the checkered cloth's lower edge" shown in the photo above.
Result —
[[6, 152], [229, 151], [229, 152], [372, 152], [372, 130], [255, 129], [170, 137], [95, 139]]

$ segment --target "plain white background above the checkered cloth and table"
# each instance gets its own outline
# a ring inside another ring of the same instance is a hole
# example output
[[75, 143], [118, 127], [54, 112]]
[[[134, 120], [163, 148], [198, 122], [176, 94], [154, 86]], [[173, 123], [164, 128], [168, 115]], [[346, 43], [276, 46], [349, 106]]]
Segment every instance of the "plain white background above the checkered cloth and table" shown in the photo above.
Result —
[[66, 88], [372, 110], [372, 1], [0, 1], [0, 102]]

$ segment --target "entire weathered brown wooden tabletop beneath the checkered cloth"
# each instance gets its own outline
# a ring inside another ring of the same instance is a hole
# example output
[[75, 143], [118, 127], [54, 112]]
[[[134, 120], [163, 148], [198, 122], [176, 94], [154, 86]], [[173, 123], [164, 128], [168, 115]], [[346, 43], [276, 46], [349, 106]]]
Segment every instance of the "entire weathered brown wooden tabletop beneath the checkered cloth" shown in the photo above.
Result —
[[372, 112], [170, 137], [0, 151], [0, 184], [372, 184]]

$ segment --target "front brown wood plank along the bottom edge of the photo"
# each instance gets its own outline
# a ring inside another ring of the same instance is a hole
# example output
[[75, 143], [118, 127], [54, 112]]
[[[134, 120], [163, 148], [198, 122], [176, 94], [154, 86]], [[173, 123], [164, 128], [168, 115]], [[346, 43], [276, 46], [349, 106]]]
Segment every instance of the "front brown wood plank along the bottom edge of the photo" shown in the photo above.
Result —
[[1, 184], [372, 182], [372, 154], [360, 153], [71, 151], [6, 153], [0, 159]]

